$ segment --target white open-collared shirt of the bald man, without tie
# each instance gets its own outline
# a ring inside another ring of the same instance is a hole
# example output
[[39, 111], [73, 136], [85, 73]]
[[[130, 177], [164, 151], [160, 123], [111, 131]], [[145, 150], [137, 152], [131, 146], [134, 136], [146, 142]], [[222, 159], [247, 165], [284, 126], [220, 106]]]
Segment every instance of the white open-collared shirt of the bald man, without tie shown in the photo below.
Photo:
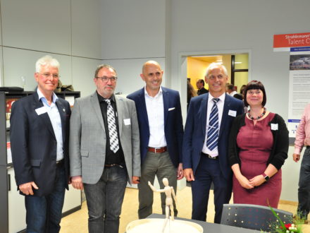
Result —
[[144, 87], [147, 119], [149, 119], [149, 147], [161, 148], [167, 145], [165, 137], [165, 122], [163, 117], [163, 90], [151, 97]]

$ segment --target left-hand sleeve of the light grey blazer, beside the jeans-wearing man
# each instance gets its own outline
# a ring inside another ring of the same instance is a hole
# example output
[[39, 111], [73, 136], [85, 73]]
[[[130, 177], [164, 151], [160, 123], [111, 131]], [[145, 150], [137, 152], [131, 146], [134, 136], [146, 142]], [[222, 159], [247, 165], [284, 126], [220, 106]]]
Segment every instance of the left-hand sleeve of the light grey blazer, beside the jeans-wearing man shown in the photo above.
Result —
[[80, 104], [75, 100], [70, 117], [70, 136], [69, 136], [69, 157], [70, 157], [70, 177], [82, 175], [82, 161], [80, 153], [81, 145], [81, 113]]

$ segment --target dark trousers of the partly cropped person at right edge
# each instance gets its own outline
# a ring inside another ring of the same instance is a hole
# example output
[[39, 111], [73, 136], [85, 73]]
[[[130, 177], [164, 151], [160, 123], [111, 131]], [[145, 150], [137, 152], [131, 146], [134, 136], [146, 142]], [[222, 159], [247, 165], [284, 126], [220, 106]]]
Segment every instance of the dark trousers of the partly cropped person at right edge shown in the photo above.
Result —
[[307, 218], [310, 210], [310, 148], [304, 151], [299, 174], [298, 208], [300, 217]]

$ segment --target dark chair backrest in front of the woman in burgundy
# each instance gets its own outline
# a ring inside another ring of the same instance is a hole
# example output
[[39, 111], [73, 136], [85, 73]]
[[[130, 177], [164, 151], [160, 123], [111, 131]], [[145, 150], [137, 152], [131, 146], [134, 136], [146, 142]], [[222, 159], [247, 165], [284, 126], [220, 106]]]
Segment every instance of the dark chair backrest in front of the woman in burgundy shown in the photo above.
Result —
[[[285, 224], [292, 223], [293, 214], [273, 208]], [[270, 232], [272, 225], [280, 225], [271, 209], [261, 205], [224, 204], [221, 224]]]

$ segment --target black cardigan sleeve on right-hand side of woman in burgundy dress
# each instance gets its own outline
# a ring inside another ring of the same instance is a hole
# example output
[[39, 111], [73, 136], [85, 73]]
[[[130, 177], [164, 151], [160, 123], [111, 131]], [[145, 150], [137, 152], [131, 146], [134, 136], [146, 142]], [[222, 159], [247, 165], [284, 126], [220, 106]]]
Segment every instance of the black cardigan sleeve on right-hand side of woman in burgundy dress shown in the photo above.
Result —
[[276, 138], [276, 142], [273, 142], [275, 143], [275, 150], [270, 163], [275, 166], [276, 169], [280, 169], [287, 159], [289, 137], [285, 121], [278, 114], [276, 116], [278, 117], [278, 137]]

